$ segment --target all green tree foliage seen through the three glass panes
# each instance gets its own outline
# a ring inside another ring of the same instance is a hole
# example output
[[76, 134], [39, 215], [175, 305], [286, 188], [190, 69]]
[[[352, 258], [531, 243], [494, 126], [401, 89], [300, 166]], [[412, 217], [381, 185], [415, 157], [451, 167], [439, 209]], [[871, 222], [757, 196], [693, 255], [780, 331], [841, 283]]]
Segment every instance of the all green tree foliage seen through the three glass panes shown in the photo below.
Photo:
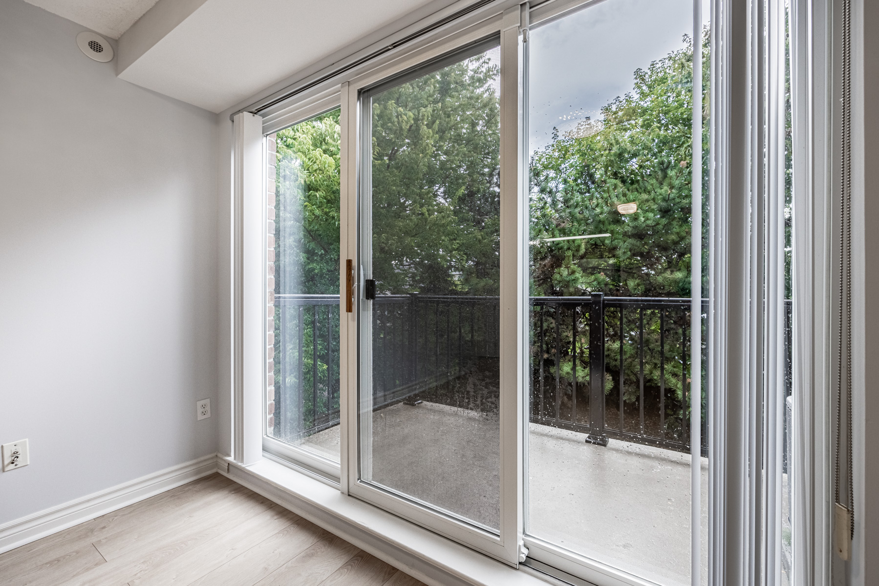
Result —
[[[708, 112], [707, 32], [702, 43]], [[582, 120], [564, 134], [556, 131], [553, 141], [534, 153], [529, 164], [533, 295], [690, 295], [692, 71], [692, 40], [685, 37], [681, 48], [637, 69], [632, 90], [605, 105], [599, 119]], [[361, 213], [371, 214], [364, 217], [371, 222], [377, 293], [498, 295], [498, 75], [497, 61], [480, 54], [371, 97], [372, 201]], [[337, 293], [338, 111], [281, 131], [278, 153], [280, 201], [292, 203], [279, 206], [284, 266], [277, 291]], [[637, 212], [619, 213], [616, 206], [622, 203], [636, 203]], [[703, 218], [708, 219], [707, 208]], [[597, 234], [610, 236], [545, 240]], [[704, 227], [703, 235], [708, 235]], [[702, 249], [707, 269], [707, 245]], [[292, 288], [284, 289], [285, 284]], [[623, 331], [614, 326], [620, 317]], [[544, 327], [553, 330], [554, 317], [544, 318]], [[570, 319], [579, 318], [569, 312], [564, 319], [561, 338], [553, 344], [570, 349], [575, 346]], [[621, 350], [626, 372], [637, 370], [638, 319], [613, 309], [607, 314], [606, 391], [617, 389], [628, 403], [636, 401], [639, 388], [628, 378], [617, 388], [615, 377]], [[675, 404], [665, 402], [666, 409], [678, 409], [677, 415], [666, 415], [669, 424], [685, 413], [689, 320], [686, 312], [663, 319], [661, 332], [659, 315], [644, 312], [645, 347], [657, 349], [665, 336], [664, 363], [657, 351], [646, 352], [644, 383], [652, 389], [663, 385], [677, 397]], [[576, 345], [586, 348], [587, 329], [578, 328]], [[559, 360], [560, 376], [572, 382], [570, 354], [533, 350], [550, 363]], [[588, 359], [587, 351], [578, 354], [578, 382], [586, 382]]]

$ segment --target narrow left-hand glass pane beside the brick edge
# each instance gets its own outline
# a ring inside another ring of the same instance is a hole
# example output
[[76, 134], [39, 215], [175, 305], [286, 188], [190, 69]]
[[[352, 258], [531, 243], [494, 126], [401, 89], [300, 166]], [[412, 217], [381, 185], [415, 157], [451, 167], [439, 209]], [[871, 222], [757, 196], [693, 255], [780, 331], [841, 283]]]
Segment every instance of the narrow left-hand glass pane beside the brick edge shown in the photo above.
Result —
[[339, 112], [321, 114], [268, 137], [270, 145], [272, 139], [276, 143], [276, 161], [275, 199], [270, 198], [268, 210], [270, 228], [274, 222], [269, 250], [274, 375], [267, 399], [272, 414], [267, 435], [336, 463]]

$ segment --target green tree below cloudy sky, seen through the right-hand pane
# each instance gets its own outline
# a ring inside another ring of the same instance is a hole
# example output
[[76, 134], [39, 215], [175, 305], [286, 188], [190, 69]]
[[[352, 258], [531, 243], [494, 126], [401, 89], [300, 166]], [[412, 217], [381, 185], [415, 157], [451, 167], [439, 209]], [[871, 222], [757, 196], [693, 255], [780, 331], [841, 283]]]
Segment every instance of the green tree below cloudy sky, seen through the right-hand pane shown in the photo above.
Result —
[[[702, 43], [703, 112], [707, 113], [707, 31]], [[584, 119], [562, 135], [556, 131], [553, 141], [534, 153], [530, 164], [533, 295], [599, 292], [620, 297], [689, 297], [692, 88], [693, 42], [685, 36], [683, 47], [651, 62], [647, 69], [636, 69], [632, 90], [605, 105], [600, 119]], [[703, 135], [703, 169], [708, 170], [707, 132]], [[707, 222], [708, 198], [703, 201]], [[617, 206], [624, 203], [636, 203], [636, 213], [618, 212]], [[600, 234], [609, 236], [544, 240]], [[707, 285], [707, 223], [703, 235], [703, 282]], [[549, 361], [549, 371], [558, 360], [561, 378], [572, 381], [570, 349], [575, 340], [570, 322], [578, 320], [576, 344], [586, 349], [586, 316], [564, 311], [559, 315], [559, 339], [555, 339], [555, 312], [539, 311], [547, 339], [543, 348], [534, 344], [534, 359], [542, 354]], [[637, 309], [607, 309], [605, 317], [606, 393], [621, 393], [629, 405], [637, 401], [640, 381], [635, 375], [641, 368], [638, 346], [643, 319], [647, 396], [658, 397], [661, 387], [672, 393], [665, 401], [664, 431], [666, 437], [683, 432], [681, 417], [688, 410], [681, 409], [687, 373], [686, 308], [667, 310], [662, 316], [657, 310], [642, 314]], [[535, 319], [540, 319], [536, 312]], [[662, 361], [660, 338], [665, 349]], [[556, 356], [556, 348], [566, 350]], [[622, 388], [621, 362], [627, 373]], [[577, 380], [585, 392], [590, 382], [588, 350], [578, 350]]]

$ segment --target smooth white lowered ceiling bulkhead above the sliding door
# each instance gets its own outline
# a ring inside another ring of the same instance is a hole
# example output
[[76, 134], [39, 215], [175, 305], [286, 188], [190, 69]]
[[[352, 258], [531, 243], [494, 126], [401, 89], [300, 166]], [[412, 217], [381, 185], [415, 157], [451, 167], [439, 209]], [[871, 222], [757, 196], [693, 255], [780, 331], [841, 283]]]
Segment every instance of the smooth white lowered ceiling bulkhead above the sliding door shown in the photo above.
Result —
[[437, 3], [206, 0], [127, 65], [120, 78], [222, 112], [410, 12]]

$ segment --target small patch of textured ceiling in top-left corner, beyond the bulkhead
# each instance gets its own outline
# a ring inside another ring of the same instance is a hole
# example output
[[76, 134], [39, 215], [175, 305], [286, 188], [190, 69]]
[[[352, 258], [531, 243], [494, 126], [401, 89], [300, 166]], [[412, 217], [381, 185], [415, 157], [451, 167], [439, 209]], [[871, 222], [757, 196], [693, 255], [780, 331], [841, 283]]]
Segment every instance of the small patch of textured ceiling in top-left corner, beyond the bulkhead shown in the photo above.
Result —
[[157, 0], [25, 0], [34, 6], [119, 39]]

